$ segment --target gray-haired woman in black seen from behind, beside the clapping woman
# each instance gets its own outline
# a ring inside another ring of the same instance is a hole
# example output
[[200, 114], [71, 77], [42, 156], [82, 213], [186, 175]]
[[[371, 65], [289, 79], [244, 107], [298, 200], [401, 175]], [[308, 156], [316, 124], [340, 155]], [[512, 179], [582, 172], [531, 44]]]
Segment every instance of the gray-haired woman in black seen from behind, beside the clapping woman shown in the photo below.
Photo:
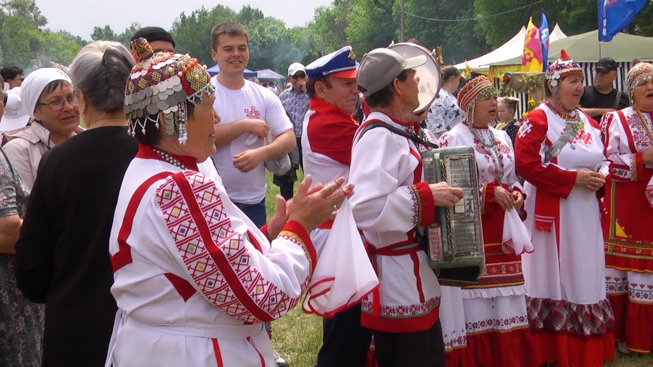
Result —
[[88, 130], [40, 161], [16, 243], [24, 295], [46, 304], [43, 366], [102, 366], [116, 315], [108, 255], [111, 223], [136, 140], [127, 135], [125, 81], [134, 59], [97, 41], [69, 71]]

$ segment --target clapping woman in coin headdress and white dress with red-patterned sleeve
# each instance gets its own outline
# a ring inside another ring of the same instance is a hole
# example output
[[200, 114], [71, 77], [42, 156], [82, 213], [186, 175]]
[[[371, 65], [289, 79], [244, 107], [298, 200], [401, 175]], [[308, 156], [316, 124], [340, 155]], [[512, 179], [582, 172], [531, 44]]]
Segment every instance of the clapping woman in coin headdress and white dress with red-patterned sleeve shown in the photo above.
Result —
[[317, 261], [308, 233], [352, 185], [309, 189], [258, 229], [229, 200], [215, 152], [214, 88], [197, 59], [138, 57], [125, 89], [136, 158], [123, 178], [109, 242], [119, 322], [114, 366], [274, 365], [263, 322], [299, 301]]

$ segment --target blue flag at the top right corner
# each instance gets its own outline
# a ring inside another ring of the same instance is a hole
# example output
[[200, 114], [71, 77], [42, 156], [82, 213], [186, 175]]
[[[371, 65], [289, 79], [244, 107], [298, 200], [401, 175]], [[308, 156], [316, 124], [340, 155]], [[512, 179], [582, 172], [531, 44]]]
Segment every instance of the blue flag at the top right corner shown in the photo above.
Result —
[[646, 5], [646, 0], [597, 0], [599, 7], [599, 41], [609, 42], [626, 28]]

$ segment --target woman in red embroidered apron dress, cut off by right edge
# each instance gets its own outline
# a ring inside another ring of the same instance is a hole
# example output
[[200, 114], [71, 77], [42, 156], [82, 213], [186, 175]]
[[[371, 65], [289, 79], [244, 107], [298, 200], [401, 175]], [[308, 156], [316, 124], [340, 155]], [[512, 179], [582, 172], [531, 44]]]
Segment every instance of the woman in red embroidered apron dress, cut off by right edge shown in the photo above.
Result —
[[653, 208], [646, 184], [653, 177], [653, 65], [628, 72], [631, 107], [603, 116], [603, 142], [611, 178], [603, 200], [609, 223], [605, 237], [605, 281], [624, 353], [653, 347]]

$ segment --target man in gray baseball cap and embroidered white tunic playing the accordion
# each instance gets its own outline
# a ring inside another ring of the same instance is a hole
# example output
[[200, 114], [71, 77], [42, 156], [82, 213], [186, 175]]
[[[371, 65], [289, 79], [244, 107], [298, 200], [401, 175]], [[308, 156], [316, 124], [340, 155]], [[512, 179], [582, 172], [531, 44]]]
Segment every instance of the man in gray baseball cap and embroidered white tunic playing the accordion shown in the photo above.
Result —
[[379, 289], [362, 301], [362, 326], [374, 334], [376, 358], [384, 366], [444, 366], [438, 319], [440, 287], [415, 227], [434, 221], [436, 206], [451, 207], [462, 189], [424, 182], [420, 150], [412, 139], [389, 129], [362, 130], [382, 122], [404, 134], [419, 133], [415, 69], [426, 56], [408, 59], [387, 48], [363, 56], [358, 89], [371, 113], [353, 143], [350, 203], [379, 276]]

